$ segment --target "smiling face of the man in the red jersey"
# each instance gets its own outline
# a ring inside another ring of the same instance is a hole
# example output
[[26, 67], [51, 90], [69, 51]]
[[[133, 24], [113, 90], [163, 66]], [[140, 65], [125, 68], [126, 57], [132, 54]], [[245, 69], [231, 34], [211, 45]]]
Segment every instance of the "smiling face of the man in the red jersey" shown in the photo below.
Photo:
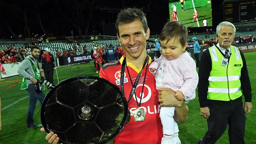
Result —
[[118, 26], [119, 35], [117, 35], [122, 47], [126, 51], [126, 56], [130, 59], [137, 59], [142, 53], [146, 54], [146, 40], [149, 38], [150, 30], [145, 33], [142, 22], [135, 20], [128, 24]]

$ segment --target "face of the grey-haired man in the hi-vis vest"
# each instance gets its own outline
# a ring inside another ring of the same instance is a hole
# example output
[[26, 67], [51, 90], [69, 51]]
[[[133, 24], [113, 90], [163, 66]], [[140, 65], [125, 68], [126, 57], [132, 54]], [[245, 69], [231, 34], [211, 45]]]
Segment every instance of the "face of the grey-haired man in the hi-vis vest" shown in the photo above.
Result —
[[234, 33], [232, 26], [222, 26], [221, 32], [218, 35], [218, 41], [222, 48], [228, 49], [234, 40]]

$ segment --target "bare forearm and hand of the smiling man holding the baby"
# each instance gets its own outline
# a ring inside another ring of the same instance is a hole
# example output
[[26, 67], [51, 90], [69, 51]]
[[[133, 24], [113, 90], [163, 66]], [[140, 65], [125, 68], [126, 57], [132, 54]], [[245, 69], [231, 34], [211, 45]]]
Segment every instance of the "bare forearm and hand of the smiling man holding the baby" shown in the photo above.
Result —
[[174, 119], [183, 124], [187, 120], [188, 107], [184, 101], [174, 97], [175, 92], [169, 88], [158, 89], [160, 105], [162, 107], [175, 107]]

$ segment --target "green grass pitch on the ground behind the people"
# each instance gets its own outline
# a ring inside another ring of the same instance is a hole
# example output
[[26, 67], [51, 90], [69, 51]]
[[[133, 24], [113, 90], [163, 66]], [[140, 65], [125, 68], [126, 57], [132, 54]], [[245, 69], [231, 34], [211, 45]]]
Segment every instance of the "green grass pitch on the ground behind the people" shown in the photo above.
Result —
[[[185, 7], [186, 8], [186, 7]], [[245, 53], [247, 67], [252, 85], [252, 96], [256, 95], [256, 52]], [[58, 69], [59, 81], [63, 81], [74, 76], [98, 76], [93, 63], [62, 66]], [[0, 80], [0, 97], [2, 101], [2, 130], [0, 131], [0, 144], [48, 144], [45, 140], [46, 133], [40, 132], [40, 127], [27, 129], [26, 113], [28, 109], [28, 92], [20, 90], [21, 76]], [[16, 81], [15, 81], [16, 80]], [[54, 72], [54, 83], [57, 84], [56, 72]], [[11, 87], [12, 86], [12, 87]], [[11, 87], [7, 89], [8, 87]], [[45, 90], [47, 94], [49, 90]], [[252, 98], [253, 107], [256, 105]], [[188, 103], [189, 114], [185, 124], [179, 124], [179, 137], [182, 144], [196, 144], [199, 138], [204, 136], [207, 130], [206, 120], [200, 116], [198, 97]], [[40, 123], [40, 104], [35, 109], [35, 124]], [[256, 143], [256, 127], [254, 121], [256, 112], [246, 116], [245, 143]], [[150, 131], [148, 131], [150, 133]], [[110, 142], [109, 144], [111, 144]], [[216, 144], [228, 144], [228, 131], [226, 130]]]

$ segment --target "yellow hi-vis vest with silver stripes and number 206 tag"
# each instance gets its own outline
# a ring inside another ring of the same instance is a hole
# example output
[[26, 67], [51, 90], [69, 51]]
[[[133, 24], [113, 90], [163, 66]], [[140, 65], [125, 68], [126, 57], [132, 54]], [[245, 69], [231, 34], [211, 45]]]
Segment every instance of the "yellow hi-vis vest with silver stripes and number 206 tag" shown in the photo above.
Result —
[[211, 72], [208, 78], [209, 100], [229, 101], [239, 98], [242, 95], [241, 88], [241, 68], [243, 61], [237, 47], [230, 47], [230, 58], [227, 66], [221, 65], [223, 55], [216, 46], [209, 48], [211, 55]]

